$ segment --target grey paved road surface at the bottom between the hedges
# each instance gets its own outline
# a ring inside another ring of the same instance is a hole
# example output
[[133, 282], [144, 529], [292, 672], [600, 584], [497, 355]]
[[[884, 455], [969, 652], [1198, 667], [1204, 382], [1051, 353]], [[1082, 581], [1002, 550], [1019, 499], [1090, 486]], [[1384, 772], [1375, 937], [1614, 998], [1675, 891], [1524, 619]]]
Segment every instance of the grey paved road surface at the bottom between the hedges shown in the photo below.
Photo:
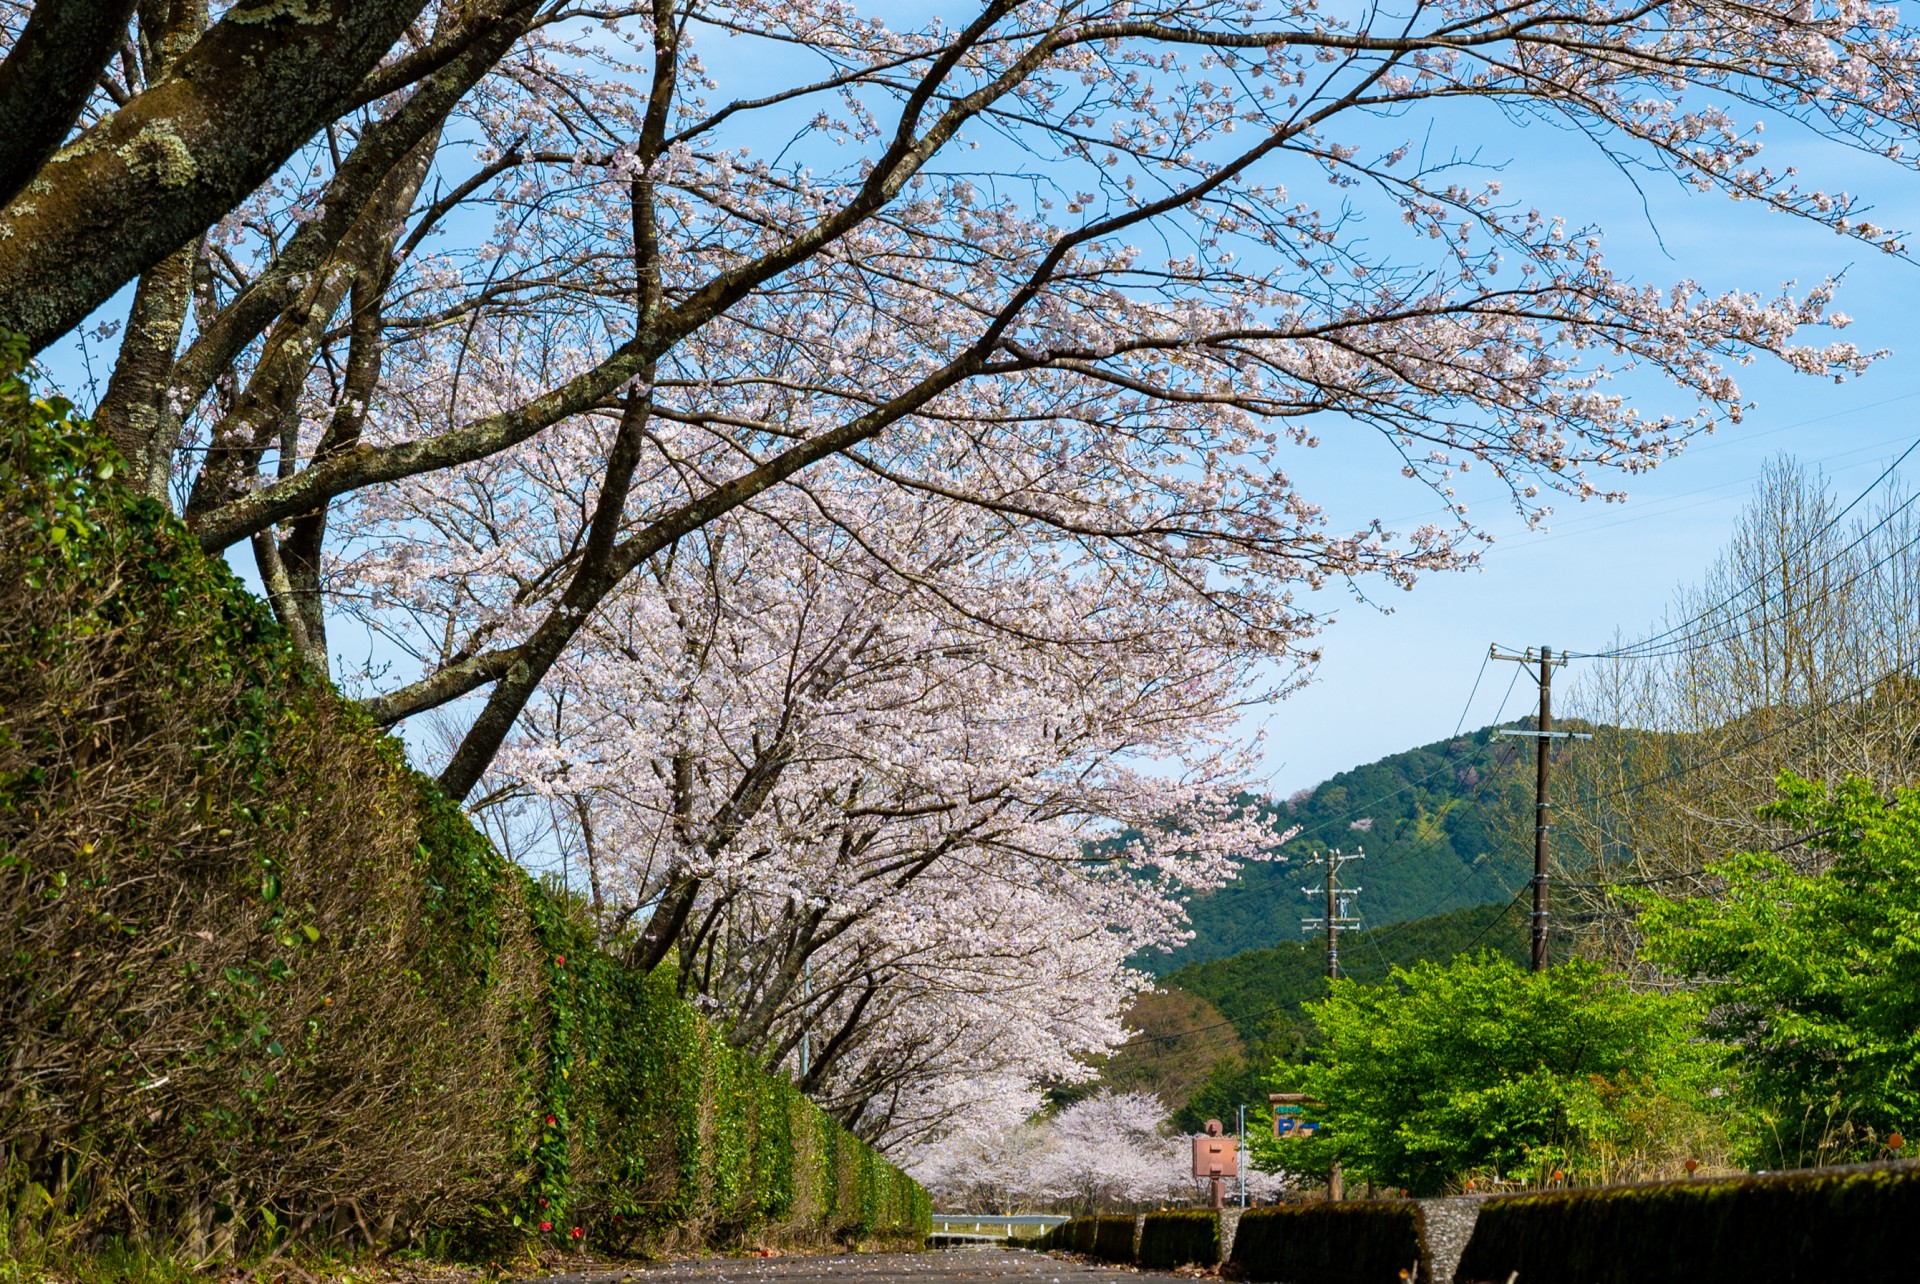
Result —
[[1044, 1253], [1004, 1248], [950, 1248], [931, 1253], [860, 1253], [851, 1257], [708, 1257], [662, 1261], [620, 1272], [559, 1274], [538, 1284], [1192, 1284], [1171, 1274], [1104, 1271]]

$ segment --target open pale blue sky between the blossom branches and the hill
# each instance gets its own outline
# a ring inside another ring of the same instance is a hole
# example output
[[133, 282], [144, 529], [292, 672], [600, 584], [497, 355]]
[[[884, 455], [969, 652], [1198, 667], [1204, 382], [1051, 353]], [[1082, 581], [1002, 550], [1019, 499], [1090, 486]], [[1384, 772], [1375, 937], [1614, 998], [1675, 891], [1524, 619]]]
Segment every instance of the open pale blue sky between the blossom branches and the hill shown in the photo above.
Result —
[[[1599, 221], [1609, 263], [1638, 280], [1692, 276], [1715, 288], [1770, 292], [1786, 280], [1843, 273], [1837, 309], [1855, 317], [1843, 338], [1891, 355], [1841, 386], [1778, 365], [1741, 370], [1741, 388], [1755, 403], [1745, 422], [1699, 438], [1651, 474], [1626, 478], [1624, 505], [1563, 501], [1546, 530], [1526, 532], [1498, 497], [1482, 493], [1475, 516], [1498, 535], [1484, 566], [1432, 576], [1411, 593], [1375, 595], [1390, 614], [1342, 603], [1340, 587], [1311, 595], [1317, 608], [1338, 606], [1313, 685], [1248, 718], [1267, 733], [1265, 770], [1277, 795], [1452, 735], [1488, 643], [1578, 651], [1605, 645], [1615, 628], [1644, 630], [1672, 591], [1713, 560], [1770, 459], [1795, 455], [1818, 464], [1837, 493], [1853, 497], [1920, 436], [1920, 265], [1753, 205], [1680, 192], [1670, 180], [1642, 182], [1642, 192], [1624, 177], [1555, 131], [1507, 131], [1488, 148], [1513, 157], [1503, 173], [1509, 192], [1572, 223]], [[1920, 178], [1910, 173], [1811, 138], [1768, 146], [1766, 159], [1866, 194], [1876, 223], [1920, 230]], [[1651, 386], [1634, 395], [1649, 413], [1692, 409]], [[1411, 484], [1396, 489], [1384, 447], [1367, 441], [1302, 461], [1294, 474], [1346, 518], [1438, 512]], [[1469, 729], [1494, 720], [1513, 668], [1488, 668], [1467, 710]], [[1523, 679], [1507, 716], [1524, 712], [1532, 699], [1532, 683]]]

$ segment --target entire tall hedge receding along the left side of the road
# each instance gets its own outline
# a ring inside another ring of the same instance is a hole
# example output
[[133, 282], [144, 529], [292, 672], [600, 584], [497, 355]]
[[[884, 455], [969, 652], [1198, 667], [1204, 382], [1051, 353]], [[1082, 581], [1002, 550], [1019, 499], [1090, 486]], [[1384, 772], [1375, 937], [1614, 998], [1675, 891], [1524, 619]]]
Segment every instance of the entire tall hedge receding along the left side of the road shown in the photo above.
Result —
[[0, 351], [15, 1248], [925, 1234], [916, 1182], [601, 950], [17, 369]]

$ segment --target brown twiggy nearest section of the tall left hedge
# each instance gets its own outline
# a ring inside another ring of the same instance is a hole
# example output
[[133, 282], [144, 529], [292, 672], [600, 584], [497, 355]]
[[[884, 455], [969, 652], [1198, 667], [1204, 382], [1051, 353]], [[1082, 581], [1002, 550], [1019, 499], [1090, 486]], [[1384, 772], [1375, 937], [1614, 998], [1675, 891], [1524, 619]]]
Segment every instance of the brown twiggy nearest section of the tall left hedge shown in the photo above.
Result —
[[4, 361], [0, 583], [21, 1205], [204, 1253], [261, 1209], [405, 1226], [513, 1192], [538, 992], [515, 887], [474, 875], [486, 923], [436, 894], [467, 854], [422, 862], [396, 745]]

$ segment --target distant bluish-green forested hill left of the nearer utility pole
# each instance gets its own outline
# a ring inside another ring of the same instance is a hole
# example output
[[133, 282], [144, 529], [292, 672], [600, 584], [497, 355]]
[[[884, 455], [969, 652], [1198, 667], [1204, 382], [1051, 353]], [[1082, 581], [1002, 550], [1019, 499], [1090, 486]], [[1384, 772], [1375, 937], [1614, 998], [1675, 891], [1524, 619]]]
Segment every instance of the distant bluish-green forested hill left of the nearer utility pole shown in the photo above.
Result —
[[1496, 729], [1409, 749], [1273, 802], [1277, 829], [1300, 827], [1281, 848], [1288, 860], [1250, 864], [1235, 883], [1194, 896], [1194, 939], [1139, 965], [1165, 975], [1298, 940], [1300, 919], [1321, 910], [1300, 891], [1319, 877], [1308, 860], [1332, 846], [1367, 854], [1342, 871], [1363, 889], [1354, 912], [1367, 927], [1515, 896], [1532, 875], [1534, 747]]

